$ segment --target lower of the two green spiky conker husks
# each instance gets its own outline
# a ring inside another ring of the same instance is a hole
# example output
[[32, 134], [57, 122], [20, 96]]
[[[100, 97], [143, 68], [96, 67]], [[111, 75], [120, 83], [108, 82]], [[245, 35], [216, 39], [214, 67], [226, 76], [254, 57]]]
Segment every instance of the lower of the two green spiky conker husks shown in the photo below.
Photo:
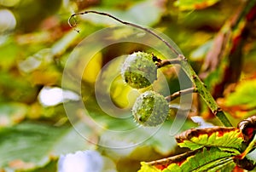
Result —
[[132, 107], [135, 121], [148, 127], [163, 123], [168, 116], [168, 112], [169, 103], [163, 95], [154, 91], [146, 91], [140, 95]]

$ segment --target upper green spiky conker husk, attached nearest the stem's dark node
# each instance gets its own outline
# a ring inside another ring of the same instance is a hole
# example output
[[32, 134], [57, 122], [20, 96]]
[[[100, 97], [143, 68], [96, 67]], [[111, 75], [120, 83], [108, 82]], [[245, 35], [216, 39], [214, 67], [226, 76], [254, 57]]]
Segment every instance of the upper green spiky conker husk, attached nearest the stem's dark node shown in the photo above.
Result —
[[134, 89], [143, 89], [154, 83], [157, 78], [157, 67], [152, 54], [136, 52], [128, 55], [121, 68], [121, 75]]

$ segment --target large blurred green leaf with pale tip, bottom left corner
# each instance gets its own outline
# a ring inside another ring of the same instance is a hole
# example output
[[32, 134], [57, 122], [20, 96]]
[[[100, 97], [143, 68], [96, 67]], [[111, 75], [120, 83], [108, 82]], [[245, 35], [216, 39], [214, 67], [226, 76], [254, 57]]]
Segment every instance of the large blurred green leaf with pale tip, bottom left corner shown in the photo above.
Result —
[[37, 169], [62, 153], [83, 149], [88, 145], [73, 128], [20, 123], [0, 129], [0, 170]]

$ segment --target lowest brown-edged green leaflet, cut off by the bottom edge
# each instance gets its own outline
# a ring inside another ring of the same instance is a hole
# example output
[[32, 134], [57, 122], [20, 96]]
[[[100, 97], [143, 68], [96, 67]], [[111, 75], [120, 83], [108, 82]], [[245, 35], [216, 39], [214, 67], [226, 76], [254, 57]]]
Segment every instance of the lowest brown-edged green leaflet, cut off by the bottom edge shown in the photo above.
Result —
[[203, 147], [171, 158], [142, 163], [139, 172], [169, 171], [232, 171], [235, 167], [234, 152], [225, 152], [218, 147]]

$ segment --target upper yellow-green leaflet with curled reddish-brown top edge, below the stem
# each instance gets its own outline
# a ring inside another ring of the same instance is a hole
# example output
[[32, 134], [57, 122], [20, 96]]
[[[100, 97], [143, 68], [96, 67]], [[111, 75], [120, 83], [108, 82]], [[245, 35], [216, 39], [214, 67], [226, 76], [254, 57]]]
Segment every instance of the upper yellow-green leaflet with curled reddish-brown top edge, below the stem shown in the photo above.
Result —
[[176, 136], [178, 146], [188, 147], [191, 150], [203, 146], [218, 146], [222, 150], [230, 152], [241, 151], [243, 136], [240, 129], [214, 127], [208, 129], [189, 129]]

